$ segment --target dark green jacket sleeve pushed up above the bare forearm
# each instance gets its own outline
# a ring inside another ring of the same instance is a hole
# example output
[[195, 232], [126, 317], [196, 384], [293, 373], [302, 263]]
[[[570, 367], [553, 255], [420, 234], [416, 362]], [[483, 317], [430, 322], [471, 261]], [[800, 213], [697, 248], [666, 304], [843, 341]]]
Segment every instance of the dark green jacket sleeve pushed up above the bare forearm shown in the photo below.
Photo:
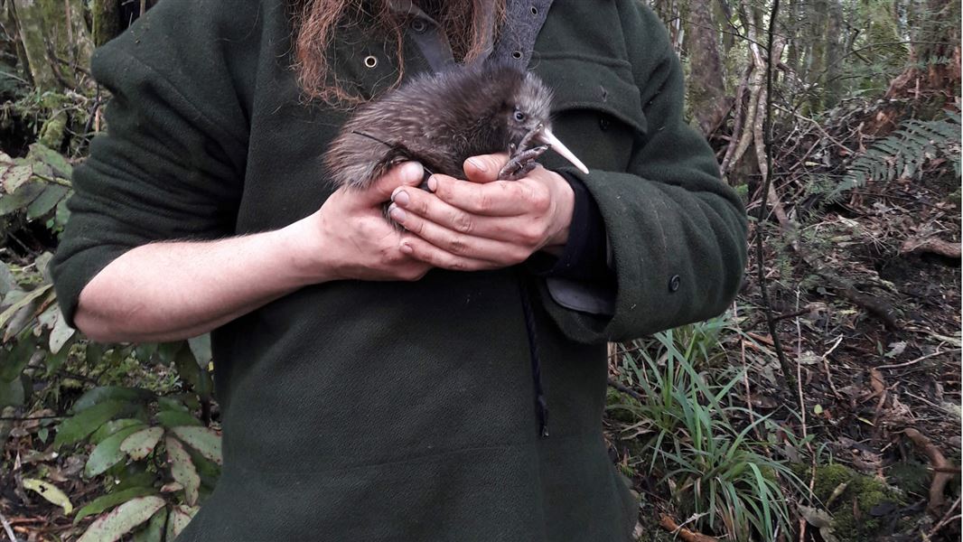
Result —
[[233, 231], [247, 126], [232, 63], [211, 46], [223, 42], [214, 9], [161, 2], [94, 54], [93, 76], [113, 96], [107, 133], [74, 169], [50, 266], [68, 323], [91, 278], [127, 250]]

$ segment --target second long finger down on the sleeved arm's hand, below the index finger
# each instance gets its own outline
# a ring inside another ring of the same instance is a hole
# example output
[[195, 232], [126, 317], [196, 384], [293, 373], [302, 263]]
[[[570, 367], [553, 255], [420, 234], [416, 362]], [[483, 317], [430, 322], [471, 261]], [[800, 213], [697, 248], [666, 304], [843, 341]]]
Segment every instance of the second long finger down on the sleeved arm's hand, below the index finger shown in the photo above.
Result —
[[485, 217], [459, 209], [424, 190], [399, 187], [391, 194], [395, 205], [452, 231], [504, 241], [516, 245], [535, 245], [544, 238], [539, 220], [531, 217]]

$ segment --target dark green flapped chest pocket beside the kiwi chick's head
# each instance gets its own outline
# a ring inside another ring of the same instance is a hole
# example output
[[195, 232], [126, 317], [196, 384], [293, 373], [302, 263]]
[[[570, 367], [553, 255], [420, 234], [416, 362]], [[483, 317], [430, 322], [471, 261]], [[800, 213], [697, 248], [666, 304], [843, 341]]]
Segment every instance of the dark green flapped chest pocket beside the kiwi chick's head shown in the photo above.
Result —
[[[628, 62], [571, 53], [543, 53], [534, 71], [555, 92], [552, 128], [588, 168], [625, 171], [648, 132]], [[546, 168], [567, 165], [548, 153]]]

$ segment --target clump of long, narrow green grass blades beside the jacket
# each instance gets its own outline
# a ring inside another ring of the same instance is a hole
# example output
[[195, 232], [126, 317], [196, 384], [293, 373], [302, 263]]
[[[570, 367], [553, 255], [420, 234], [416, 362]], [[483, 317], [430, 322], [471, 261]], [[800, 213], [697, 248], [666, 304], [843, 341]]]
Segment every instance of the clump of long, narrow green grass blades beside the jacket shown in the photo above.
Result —
[[751, 438], [765, 418], [736, 424], [748, 418], [728, 401], [742, 374], [718, 371], [721, 383], [714, 383], [696, 369], [714, 363], [724, 327], [721, 320], [698, 323], [623, 347], [621, 374], [640, 394], [610, 409], [647, 426], [634, 466], [665, 484], [680, 519], [730, 540], [777, 540], [792, 531], [780, 479], [801, 482]]

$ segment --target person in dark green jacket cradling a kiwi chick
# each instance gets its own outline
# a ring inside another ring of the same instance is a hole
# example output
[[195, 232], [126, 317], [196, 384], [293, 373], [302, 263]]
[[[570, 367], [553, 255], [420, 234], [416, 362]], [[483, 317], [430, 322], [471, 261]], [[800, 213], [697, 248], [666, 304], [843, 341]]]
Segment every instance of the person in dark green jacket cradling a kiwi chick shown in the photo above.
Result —
[[632, 538], [606, 343], [745, 264], [654, 13], [162, 0], [92, 73], [51, 271], [92, 340], [211, 333], [223, 469], [178, 540]]

